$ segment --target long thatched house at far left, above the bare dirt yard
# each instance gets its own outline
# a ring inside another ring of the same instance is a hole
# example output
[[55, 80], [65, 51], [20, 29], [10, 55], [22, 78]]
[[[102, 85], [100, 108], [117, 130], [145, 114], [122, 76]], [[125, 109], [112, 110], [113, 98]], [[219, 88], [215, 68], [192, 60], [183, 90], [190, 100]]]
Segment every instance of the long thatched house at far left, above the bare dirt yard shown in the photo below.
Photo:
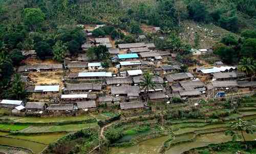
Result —
[[27, 72], [27, 71], [54, 71], [62, 69], [62, 64], [36, 64], [36, 65], [24, 65], [19, 66], [18, 72]]

